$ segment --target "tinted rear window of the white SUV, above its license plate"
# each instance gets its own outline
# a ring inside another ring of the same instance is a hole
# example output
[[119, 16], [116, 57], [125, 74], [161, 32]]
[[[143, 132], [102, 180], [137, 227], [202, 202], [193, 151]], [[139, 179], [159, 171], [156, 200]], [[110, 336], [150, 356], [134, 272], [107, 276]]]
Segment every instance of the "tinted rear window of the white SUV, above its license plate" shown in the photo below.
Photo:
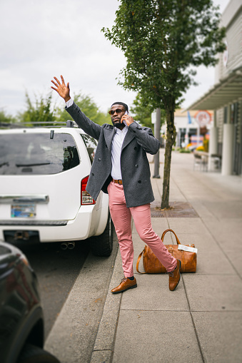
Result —
[[74, 138], [68, 133], [0, 135], [0, 175], [56, 174], [79, 165]]

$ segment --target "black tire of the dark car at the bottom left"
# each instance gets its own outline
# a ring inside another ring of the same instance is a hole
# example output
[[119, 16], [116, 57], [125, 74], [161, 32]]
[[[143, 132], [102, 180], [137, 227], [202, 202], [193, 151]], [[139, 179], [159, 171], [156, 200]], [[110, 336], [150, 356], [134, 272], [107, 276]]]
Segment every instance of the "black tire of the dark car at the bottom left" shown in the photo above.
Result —
[[54, 355], [40, 347], [36, 347], [36, 345], [25, 344], [18, 363], [60, 363], [60, 361]]

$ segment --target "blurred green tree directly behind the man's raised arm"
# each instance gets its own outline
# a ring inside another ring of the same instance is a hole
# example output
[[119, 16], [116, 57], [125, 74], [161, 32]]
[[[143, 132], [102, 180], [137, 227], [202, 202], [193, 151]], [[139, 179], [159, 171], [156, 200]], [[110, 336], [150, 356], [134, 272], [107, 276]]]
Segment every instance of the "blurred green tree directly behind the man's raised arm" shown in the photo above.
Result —
[[[85, 115], [91, 119], [91, 121], [99, 123], [99, 125], [103, 125], [104, 123], [111, 123], [109, 113], [107, 112], [105, 114], [99, 111], [99, 107], [90, 96], [85, 96], [82, 93], [79, 93], [79, 95], [74, 95], [74, 102], [81, 108], [81, 111], [84, 112]], [[57, 109], [56, 121], [66, 123], [69, 118], [69, 113], [65, 111], [64, 107]]]

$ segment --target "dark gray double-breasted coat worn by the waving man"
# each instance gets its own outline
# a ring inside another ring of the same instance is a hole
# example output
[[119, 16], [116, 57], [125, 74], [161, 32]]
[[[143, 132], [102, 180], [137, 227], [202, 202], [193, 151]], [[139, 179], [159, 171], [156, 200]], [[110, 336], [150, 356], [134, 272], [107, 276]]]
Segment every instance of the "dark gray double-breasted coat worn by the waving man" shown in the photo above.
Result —
[[[115, 134], [114, 126], [103, 126], [89, 120], [73, 103], [66, 111], [88, 135], [99, 140], [91, 167], [86, 191], [96, 200], [100, 190], [108, 193], [111, 182], [111, 144]], [[151, 128], [141, 127], [135, 121], [128, 126], [121, 150], [121, 175], [123, 191], [128, 208], [153, 202], [151, 173], [146, 153], [156, 154], [159, 141], [153, 136]]]

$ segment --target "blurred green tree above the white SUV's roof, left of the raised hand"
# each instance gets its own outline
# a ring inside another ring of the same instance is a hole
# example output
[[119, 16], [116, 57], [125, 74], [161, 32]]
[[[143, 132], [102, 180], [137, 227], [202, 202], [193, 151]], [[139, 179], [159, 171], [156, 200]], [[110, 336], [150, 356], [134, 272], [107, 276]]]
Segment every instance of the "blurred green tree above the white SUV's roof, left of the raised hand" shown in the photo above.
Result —
[[48, 96], [35, 96], [35, 104], [31, 102], [29, 94], [26, 92], [26, 111], [19, 113], [18, 119], [26, 126], [47, 126], [48, 123], [54, 123], [55, 110], [51, 106], [52, 93]]

